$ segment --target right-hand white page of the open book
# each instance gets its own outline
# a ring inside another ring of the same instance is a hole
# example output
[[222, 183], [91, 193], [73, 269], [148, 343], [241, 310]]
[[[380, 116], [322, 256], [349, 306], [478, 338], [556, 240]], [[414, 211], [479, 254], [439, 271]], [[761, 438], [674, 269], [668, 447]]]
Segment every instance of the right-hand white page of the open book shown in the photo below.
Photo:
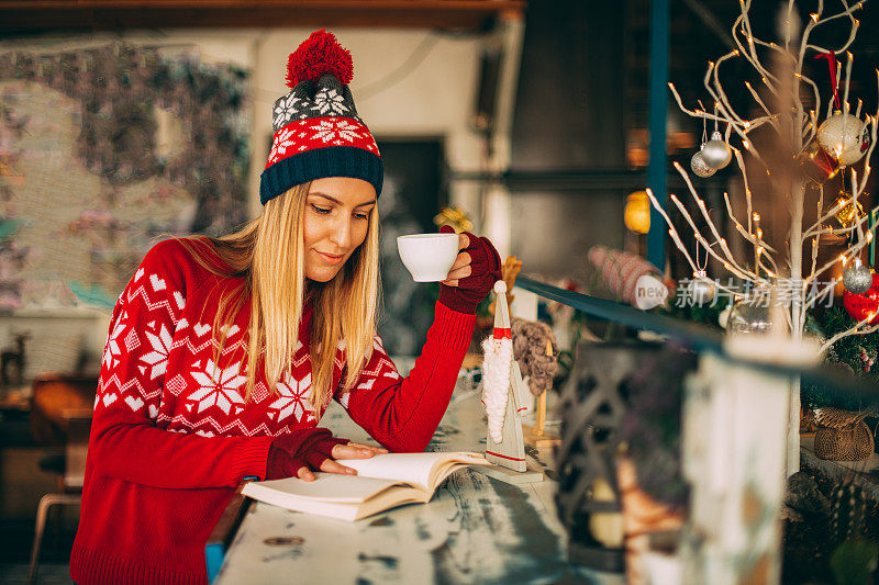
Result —
[[465, 464], [478, 464], [485, 459], [478, 453], [387, 453], [370, 459], [338, 460], [343, 465], [356, 469], [361, 477], [380, 477], [397, 480], [416, 485], [426, 492], [436, 487], [431, 483], [431, 472], [435, 466], [446, 462], [460, 461]]

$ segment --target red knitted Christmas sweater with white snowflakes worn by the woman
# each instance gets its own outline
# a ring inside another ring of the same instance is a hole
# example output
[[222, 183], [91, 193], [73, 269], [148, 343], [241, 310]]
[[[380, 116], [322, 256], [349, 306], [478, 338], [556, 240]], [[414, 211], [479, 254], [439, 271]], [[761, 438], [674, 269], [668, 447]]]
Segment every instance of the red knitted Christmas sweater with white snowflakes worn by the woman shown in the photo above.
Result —
[[[220, 262], [219, 258], [216, 260]], [[314, 427], [307, 310], [290, 371], [243, 394], [249, 304], [211, 342], [218, 300], [234, 279], [201, 268], [183, 246], [155, 246], [116, 303], [101, 364], [82, 511], [70, 576], [90, 583], [204, 583], [204, 543], [241, 480], [265, 476], [271, 438]], [[376, 337], [349, 393], [335, 398], [392, 451], [422, 451], [448, 405], [474, 315], [437, 303], [421, 357], [402, 379]], [[344, 365], [336, 359], [334, 387]]]

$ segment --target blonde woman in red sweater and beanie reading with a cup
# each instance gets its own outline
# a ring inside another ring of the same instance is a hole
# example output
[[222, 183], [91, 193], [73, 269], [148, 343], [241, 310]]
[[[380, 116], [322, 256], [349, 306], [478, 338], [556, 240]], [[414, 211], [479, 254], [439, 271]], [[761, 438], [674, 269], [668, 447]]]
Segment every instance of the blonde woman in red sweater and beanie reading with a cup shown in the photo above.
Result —
[[330, 398], [393, 451], [424, 450], [448, 405], [498, 254], [460, 236], [401, 379], [375, 335], [382, 167], [347, 88], [351, 56], [319, 31], [288, 81], [260, 217], [158, 244], [113, 311], [70, 560], [79, 584], [203, 583], [204, 543], [242, 480], [354, 474], [334, 459], [386, 452], [319, 428]]

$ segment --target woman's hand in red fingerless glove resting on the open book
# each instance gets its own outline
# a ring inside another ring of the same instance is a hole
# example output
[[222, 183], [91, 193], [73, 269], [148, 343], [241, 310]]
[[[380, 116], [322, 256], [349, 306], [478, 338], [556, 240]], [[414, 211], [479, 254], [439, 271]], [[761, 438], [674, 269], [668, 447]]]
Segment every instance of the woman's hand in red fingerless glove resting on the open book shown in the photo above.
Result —
[[313, 471], [357, 475], [357, 471], [336, 459], [369, 459], [387, 449], [336, 439], [325, 428], [299, 429], [271, 441], [266, 462], [266, 479], [299, 477], [314, 481]]

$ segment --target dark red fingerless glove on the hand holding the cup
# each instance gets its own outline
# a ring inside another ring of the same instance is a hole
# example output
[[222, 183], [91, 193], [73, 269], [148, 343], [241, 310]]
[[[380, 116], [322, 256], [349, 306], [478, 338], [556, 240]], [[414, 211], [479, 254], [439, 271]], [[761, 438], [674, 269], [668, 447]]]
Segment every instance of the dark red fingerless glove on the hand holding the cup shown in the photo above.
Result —
[[[444, 225], [439, 232], [448, 234], [454, 229]], [[469, 232], [465, 234], [470, 238], [470, 244], [460, 251], [470, 255], [470, 275], [459, 279], [457, 286], [441, 283], [439, 302], [453, 311], [472, 315], [476, 313], [476, 305], [501, 280], [501, 258], [488, 238], [474, 236]]]

